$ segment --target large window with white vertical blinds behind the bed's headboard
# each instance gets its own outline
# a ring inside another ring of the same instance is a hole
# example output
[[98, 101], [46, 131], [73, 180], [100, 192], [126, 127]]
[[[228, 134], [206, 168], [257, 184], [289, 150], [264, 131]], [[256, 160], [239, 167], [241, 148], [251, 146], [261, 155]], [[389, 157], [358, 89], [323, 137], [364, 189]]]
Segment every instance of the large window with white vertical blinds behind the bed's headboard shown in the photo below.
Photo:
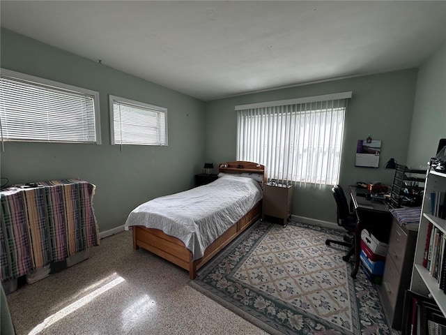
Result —
[[338, 184], [348, 98], [351, 92], [236, 106], [237, 159], [266, 165], [282, 183]]

